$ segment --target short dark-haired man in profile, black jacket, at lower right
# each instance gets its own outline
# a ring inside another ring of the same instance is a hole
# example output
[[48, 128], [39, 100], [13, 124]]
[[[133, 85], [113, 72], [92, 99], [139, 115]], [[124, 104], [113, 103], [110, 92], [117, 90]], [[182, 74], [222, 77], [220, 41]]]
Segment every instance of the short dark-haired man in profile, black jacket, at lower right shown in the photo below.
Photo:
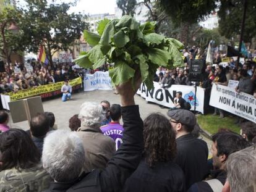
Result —
[[211, 152], [213, 154], [213, 167], [215, 167], [215, 170], [211, 170], [210, 180], [194, 183], [188, 192], [221, 191], [227, 178], [224, 164], [229, 155], [248, 146], [249, 143], [236, 133], [227, 132], [213, 135]]

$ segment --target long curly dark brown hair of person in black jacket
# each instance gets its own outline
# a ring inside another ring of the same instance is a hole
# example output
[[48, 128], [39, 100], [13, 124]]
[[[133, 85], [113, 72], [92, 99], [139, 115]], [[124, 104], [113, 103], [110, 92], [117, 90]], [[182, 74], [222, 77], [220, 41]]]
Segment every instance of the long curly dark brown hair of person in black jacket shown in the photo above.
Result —
[[164, 115], [148, 115], [144, 120], [143, 137], [143, 156], [150, 167], [156, 162], [171, 161], [176, 156], [176, 133]]

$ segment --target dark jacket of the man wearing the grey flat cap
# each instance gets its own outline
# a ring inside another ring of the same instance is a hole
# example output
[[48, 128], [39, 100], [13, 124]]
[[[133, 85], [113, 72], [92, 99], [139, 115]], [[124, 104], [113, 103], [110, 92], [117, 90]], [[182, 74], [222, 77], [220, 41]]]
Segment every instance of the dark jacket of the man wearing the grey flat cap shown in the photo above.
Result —
[[207, 177], [208, 147], [205, 141], [194, 138], [191, 134], [176, 139], [176, 163], [181, 167], [186, 178], [186, 189]]

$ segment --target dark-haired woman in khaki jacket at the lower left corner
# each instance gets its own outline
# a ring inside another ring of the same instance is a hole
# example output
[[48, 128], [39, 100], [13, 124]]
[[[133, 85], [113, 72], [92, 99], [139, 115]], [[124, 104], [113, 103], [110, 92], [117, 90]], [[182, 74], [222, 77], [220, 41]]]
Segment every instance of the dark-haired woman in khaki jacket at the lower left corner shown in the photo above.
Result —
[[1, 133], [0, 191], [43, 191], [49, 182], [30, 136], [17, 128]]

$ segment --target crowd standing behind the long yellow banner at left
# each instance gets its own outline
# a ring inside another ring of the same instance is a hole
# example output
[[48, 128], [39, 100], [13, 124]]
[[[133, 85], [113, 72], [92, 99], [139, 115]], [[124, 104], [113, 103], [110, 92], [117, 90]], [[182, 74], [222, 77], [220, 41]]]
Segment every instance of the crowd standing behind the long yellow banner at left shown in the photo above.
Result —
[[[31, 66], [30, 70], [27, 70], [27, 65]], [[0, 93], [17, 92], [35, 86], [72, 80], [79, 77], [80, 73], [80, 69], [74, 63], [54, 62], [52, 65], [46, 65], [38, 61], [28, 61], [24, 65], [15, 61], [14, 64], [6, 64], [4, 71], [0, 73]]]

